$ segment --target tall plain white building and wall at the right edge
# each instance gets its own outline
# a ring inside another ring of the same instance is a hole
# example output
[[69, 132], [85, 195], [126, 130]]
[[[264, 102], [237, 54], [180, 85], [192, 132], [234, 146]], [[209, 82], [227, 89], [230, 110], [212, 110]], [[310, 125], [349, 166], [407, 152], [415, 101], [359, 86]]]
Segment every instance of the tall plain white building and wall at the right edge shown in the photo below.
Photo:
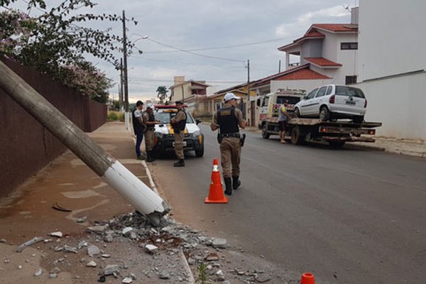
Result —
[[359, 3], [356, 87], [368, 99], [377, 134], [426, 139], [426, 1]]

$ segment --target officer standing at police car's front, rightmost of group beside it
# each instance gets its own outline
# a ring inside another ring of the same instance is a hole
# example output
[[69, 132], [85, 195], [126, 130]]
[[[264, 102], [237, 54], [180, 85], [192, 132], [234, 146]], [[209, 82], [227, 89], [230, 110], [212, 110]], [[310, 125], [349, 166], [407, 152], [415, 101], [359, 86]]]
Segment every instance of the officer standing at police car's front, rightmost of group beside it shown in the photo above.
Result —
[[175, 133], [175, 154], [178, 157], [178, 162], [174, 163], [174, 167], [185, 167], [185, 155], [183, 154], [183, 138], [185, 136], [185, 127], [187, 115], [183, 110], [182, 102], [175, 102], [176, 113], [173, 119], [170, 119], [170, 124], [173, 127], [173, 132]]

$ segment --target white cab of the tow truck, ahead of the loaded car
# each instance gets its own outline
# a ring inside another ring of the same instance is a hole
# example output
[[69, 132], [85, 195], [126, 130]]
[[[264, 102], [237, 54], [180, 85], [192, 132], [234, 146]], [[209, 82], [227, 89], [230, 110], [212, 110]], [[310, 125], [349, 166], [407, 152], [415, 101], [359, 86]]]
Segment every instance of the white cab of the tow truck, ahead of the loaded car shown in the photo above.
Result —
[[258, 128], [262, 129], [266, 121], [278, 122], [278, 109], [285, 101], [288, 101], [289, 104], [287, 111], [294, 111], [295, 104], [305, 97], [305, 95], [306, 91], [301, 89], [278, 89], [277, 92], [263, 95], [256, 102], [259, 107]]

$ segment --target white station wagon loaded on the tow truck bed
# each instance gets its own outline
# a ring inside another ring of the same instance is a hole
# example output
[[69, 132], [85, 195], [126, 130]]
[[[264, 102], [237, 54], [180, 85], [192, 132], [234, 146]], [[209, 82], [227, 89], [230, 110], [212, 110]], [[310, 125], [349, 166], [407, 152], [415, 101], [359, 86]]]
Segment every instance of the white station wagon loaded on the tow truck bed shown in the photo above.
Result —
[[322, 121], [352, 119], [364, 121], [367, 99], [361, 89], [338, 84], [327, 84], [314, 89], [295, 105], [295, 116], [314, 117]]

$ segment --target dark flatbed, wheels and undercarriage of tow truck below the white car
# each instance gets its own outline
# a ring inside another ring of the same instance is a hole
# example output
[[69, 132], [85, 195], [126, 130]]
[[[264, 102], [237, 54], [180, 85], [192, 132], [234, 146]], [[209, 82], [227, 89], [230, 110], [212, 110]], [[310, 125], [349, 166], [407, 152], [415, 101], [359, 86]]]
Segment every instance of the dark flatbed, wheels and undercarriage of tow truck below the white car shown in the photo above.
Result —
[[[381, 125], [381, 122], [356, 124], [346, 120], [322, 121], [321, 119], [293, 118], [288, 121], [285, 141], [296, 145], [308, 141], [325, 141], [334, 148], [343, 147], [346, 142], [373, 143], [375, 139], [371, 136], [376, 134], [375, 128]], [[260, 126], [262, 137], [265, 139], [279, 133], [278, 119], [262, 121]]]

